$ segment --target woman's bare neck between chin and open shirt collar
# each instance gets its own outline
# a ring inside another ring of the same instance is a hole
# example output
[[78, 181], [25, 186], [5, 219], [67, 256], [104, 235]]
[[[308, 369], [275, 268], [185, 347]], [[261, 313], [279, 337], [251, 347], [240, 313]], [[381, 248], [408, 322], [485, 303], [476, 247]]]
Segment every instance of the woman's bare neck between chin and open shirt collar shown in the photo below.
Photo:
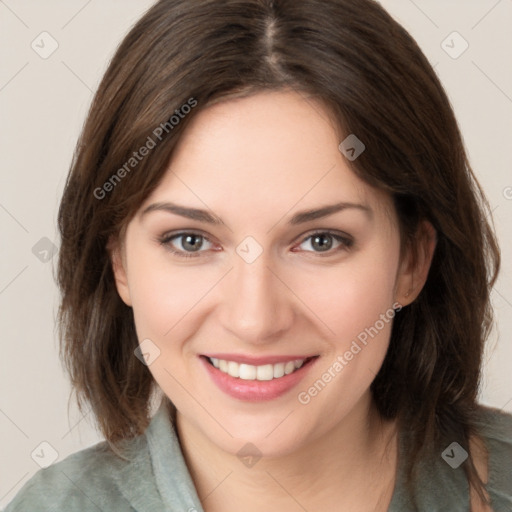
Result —
[[213, 444], [179, 412], [176, 426], [187, 466], [206, 512], [239, 510], [382, 510], [392, 497], [397, 465], [393, 422], [366, 395], [334, 429], [280, 457], [244, 465]]

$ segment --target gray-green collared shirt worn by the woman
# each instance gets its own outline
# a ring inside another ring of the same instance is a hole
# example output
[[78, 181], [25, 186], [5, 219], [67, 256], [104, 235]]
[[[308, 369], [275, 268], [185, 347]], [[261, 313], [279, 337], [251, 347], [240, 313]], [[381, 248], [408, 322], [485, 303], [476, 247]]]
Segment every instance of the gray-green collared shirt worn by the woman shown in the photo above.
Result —
[[[512, 512], [512, 416], [482, 407], [480, 431], [489, 452], [493, 510]], [[203, 512], [165, 403], [144, 435], [126, 446], [129, 460], [102, 442], [38, 471], [6, 512]], [[448, 445], [433, 462], [421, 463], [417, 509], [405, 492], [399, 464], [389, 512], [468, 512], [468, 483], [457, 460], [461, 453]]]

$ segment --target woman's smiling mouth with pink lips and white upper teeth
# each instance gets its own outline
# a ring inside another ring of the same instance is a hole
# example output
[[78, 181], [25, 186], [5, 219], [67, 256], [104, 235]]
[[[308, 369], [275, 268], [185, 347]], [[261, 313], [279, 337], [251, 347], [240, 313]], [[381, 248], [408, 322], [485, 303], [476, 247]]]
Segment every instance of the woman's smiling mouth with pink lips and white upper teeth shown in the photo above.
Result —
[[272, 400], [290, 391], [302, 380], [318, 357], [251, 358], [212, 354], [202, 355], [200, 359], [221, 391], [238, 400], [260, 401]]

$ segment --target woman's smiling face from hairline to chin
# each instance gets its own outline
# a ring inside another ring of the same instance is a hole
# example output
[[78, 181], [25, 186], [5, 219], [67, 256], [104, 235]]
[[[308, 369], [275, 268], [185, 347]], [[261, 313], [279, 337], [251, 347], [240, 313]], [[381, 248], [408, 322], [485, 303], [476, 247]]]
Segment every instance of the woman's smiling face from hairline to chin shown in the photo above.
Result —
[[231, 453], [289, 453], [367, 410], [406, 303], [391, 200], [340, 142], [294, 92], [213, 105], [114, 254], [156, 382]]

